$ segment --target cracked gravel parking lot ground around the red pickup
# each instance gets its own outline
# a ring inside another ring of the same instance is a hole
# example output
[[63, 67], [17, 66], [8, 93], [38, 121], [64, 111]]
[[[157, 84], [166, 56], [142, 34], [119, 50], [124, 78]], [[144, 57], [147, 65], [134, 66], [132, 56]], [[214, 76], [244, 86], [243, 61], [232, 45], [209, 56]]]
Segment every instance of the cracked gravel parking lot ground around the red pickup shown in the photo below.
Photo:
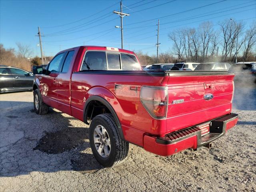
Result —
[[0, 95], [0, 191], [256, 191], [256, 89], [236, 88], [238, 125], [211, 149], [161, 157], [130, 144], [120, 166], [95, 160], [88, 126], [33, 112], [32, 92]]

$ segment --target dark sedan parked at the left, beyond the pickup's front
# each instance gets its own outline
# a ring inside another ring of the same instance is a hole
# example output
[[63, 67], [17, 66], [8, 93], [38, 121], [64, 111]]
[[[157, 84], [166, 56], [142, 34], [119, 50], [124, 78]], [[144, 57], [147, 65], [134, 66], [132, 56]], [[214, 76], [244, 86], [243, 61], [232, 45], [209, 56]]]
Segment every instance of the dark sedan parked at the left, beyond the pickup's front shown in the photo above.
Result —
[[0, 93], [33, 90], [34, 75], [16, 67], [0, 66]]

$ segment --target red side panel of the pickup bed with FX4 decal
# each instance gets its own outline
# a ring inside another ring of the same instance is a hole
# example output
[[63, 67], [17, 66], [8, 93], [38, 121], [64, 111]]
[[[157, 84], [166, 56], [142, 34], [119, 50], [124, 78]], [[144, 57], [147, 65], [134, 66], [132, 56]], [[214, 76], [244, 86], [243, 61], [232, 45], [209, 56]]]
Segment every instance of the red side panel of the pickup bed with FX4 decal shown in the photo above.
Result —
[[[86, 100], [97, 95], [106, 99], [114, 108], [124, 133], [124, 138], [142, 146], [144, 132], [165, 134], [166, 120], [153, 119], [140, 102], [142, 85], [157, 86], [167, 83], [166, 77], [138, 75], [102, 75], [73, 73], [71, 82], [72, 114], [83, 120], [83, 109]], [[115, 85], [122, 88], [115, 90]], [[130, 90], [137, 87], [137, 92]]]

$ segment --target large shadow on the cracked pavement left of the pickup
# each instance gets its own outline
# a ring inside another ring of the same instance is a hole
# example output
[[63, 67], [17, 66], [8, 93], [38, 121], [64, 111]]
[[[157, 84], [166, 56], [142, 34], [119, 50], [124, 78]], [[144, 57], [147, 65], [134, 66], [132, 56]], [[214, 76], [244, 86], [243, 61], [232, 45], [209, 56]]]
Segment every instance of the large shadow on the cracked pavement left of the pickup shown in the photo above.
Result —
[[0, 112], [0, 134], [5, 137], [0, 141], [0, 176], [103, 168], [88, 149], [89, 128], [84, 123], [75, 121], [74, 125], [73, 117], [52, 109], [39, 116], [32, 102], [0, 104], [8, 108]]

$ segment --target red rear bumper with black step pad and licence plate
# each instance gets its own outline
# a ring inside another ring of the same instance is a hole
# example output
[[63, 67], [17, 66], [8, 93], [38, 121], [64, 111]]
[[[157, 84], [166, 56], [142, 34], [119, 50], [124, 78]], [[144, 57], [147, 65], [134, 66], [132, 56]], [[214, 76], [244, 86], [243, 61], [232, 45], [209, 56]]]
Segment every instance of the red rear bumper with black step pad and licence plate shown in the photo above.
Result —
[[208, 122], [210, 122], [210, 133], [204, 136], [196, 125], [162, 138], [145, 135], [143, 147], [146, 151], [161, 156], [169, 156], [188, 148], [196, 149], [224, 136], [226, 131], [238, 122], [238, 114], [231, 113]]

